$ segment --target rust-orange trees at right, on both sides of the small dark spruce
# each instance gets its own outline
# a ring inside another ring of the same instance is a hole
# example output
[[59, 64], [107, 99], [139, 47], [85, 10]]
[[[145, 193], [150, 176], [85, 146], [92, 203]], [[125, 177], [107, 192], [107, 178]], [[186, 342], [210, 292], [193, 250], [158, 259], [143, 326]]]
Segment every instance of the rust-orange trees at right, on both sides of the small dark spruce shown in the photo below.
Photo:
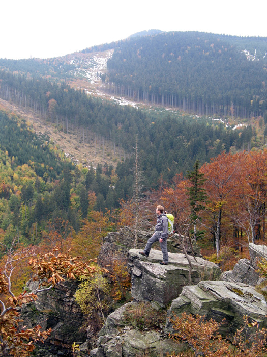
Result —
[[[199, 173], [204, 179], [201, 189], [206, 198], [203, 202], [196, 202], [201, 210], [198, 211], [195, 228], [204, 232], [205, 238], [200, 244], [207, 247], [206, 252], [211, 253], [214, 248], [219, 259], [222, 247], [227, 246], [236, 251], [236, 257], [239, 254], [242, 258], [249, 242], [264, 242], [266, 166], [265, 149], [237, 154], [222, 152], [200, 167]], [[176, 232], [180, 234], [188, 230], [188, 189], [192, 185], [192, 181], [184, 179], [181, 174], [176, 175], [172, 185], [166, 185], [159, 195], [165, 209], [174, 215]], [[184, 222], [186, 225], [181, 229]], [[203, 250], [205, 255], [206, 252]], [[233, 263], [235, 261], [232, 259]], [[226, 266], [229, 268], [229, 264]]]

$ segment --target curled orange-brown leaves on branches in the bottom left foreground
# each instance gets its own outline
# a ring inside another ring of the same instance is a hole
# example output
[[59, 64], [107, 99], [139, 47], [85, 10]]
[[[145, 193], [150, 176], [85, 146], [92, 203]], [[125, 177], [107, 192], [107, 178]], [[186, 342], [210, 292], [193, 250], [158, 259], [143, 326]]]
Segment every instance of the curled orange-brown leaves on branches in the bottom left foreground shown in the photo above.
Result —
[[[80, 257], [72, 257], [70, 252], [58, 253], [58, 247], [47, 254], [36, 254], [33, 248], [20, 247], [15, 250], [15, 247], [13, 241], [7, 249], [6, 262], [0, 271], [0, 351], [4, 357], [27, 357], [35, 348], [34, 342], [47, 338], [51, 330], [41, 331], [40, 326], [21, 329], [19, 322], [23, 320], [17, 308], [23, 303], [36, 300], [38, 292], [49, 290], [65, 279], [75, 279], [80, 275], [93, 276], [97, 268], [85, 263]], [[29, 258], [29, 265], [35, 271], [34, 279], [38, 284], [35, 291], [24, 291], [16, 296], [12, 291], [12, 274], [25, 258]]]

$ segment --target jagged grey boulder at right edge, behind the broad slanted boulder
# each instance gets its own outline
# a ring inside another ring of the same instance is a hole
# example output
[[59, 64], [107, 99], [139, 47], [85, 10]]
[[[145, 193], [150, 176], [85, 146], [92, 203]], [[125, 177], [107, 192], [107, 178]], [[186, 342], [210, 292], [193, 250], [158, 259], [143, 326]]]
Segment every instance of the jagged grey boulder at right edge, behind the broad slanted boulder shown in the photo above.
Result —
[[226, 271], [220, 280], [226, 282], [244, 283], [251, 286], [258, 285], [263, 279], [257, 272], [257, 263], [262, 258], [267, 258], [267, 246], [249, 243], [249, 259], [240, 259], [233, 270]]

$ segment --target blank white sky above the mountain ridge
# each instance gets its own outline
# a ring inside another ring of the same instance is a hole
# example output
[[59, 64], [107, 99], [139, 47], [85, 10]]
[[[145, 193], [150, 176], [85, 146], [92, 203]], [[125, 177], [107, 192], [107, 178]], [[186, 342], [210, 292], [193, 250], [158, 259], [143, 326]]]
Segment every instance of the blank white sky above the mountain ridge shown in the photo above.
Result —
[[267, 37], [266, 0], [5, 0], [0, 9], [0, 58], [63, 56], [149, 29]]

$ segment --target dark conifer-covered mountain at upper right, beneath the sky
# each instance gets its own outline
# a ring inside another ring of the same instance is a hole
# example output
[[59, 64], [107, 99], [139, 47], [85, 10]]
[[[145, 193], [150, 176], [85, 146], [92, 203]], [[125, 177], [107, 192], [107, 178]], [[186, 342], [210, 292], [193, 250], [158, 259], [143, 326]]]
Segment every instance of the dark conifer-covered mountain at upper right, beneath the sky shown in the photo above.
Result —
[[[251, 52], [249, 52], [251, 51]], [[168, 32], [121, 41], [108, 60], [114, 92], [200, 115], [263, 115], [265, 38]]]

